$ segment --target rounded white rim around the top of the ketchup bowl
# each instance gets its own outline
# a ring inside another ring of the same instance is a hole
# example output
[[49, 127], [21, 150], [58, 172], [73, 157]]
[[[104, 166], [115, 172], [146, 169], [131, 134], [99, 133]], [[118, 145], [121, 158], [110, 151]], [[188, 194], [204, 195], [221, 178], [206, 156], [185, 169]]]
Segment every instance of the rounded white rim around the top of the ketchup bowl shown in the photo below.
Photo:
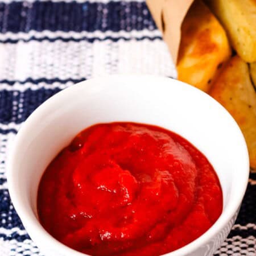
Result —
[[[81, 81], [77, 84], [74, 84], [72, 86], [69, 86], [68, 88], [65, 88], [64, 90], [60, 90], [60, 92], [54, 94], [52, 97], [48, 98], [48, 100], [44, 101], [43, 104], [41, 104], [38, 108], [34, 110], [34, 112], [26, 119], [26, 121], [23, 123], [22, 127], [20, 127], [20, 130], [18, 131], [18, 134], [16, 134], [13, 145], [10, 148], [9, 155], [7, 156], [7, 162], [6, 162], [6, 176], [7, 176], [7, 183], [8, 183], [8, 189], [11, 197], [11, 201], [13, 201], [14, 208], [16, 212], [18, 213], [20, 219], [22, 220], [22, 223], [24, 227], [27, 230], [27, 233], [29, 236], [31, 236], [33, 241], [36, 241], [36, 245], [43, 250], [42, 245], [49, 245], [53, 248], [55, 248], [59, 253], [69, 253], [71, 255], [76, 255], [76, 256], [82, 256], [82, 255], [87, 255], [84, 253], [81, 253], [79, 251], [76, 251], [63, 243], [57, 241], [54, 237], [52, 237], [40, 224], [40, 221], [36, 216], [35, 218], [31, 219], [30, 216], [28, 216], [27, 209], [23, 206], [23, 203], [16, 198], [16, 188], [14, 187], [14, 172], [15, 172], [15, 155], [18, 154], [17, 148], [20, 147], [20, 142], [22, 141], [22, 138], [27, 134], [27, 130], [30, 129], [30, 125], [33, 122], [34, 117], [36, 115], [40, 114], [41, 110], [44, 108], [47, 108], [49, 103], [53, 102], [56, 100], [56, 98], [61, 98], [68, 94], [71, 90], [76, 90], [77, 88], [81, 86], [88, 86], [89, 82], [94, 83], [95, 85], [99, 84], [100, 81], [105, 81], [106, 79], [108, 80], [115, 80], [117, 79], [130, 79], [130, 80], [137, 80], [137, 79], [155, 79], [155, 80], [169, 80], [170, 82], [177, 83], [177, 84], [182, 84], [185, 88], [189, 90], [194, 90], [197, 91], [197, 93], [201, 94], [203, 97], [208, 97], [210, 101], [214, 101], [214, 104], [217, 104], [219, 108], [221, 108], [221, 111], [224, 111], [228, 113], [228, 111], [222, 107], [216, 100], [214, 100], [212, 97], [210, 97], [207, 93], [202, 92], [201, 90], [195, 88], [194, 86], [185, 84], [184, 82], [178, 81], [176, 79], [172, 79], [170, 77], [163, 77], [163, 76], [155, 76], [155, 75], [137, 75], [137, 74], [120, 74], [120, 75], [106, 75], [106, 76], [101, 76], [98, 78], [93, 78], [93, 79], [88, 79], [85, 81]], [[159, 85], [158, 85], [159, 86]], [[233, 117], [228, 113], [230, 118], [233, 119]], [[247, 151], [247, 146], [245, 139], [243, 137], [242, 131], [238, 127], [236, 121], [233, 119], [233, 125], [237, 129], [237, 135], [242, 137], [243, 145], [241, 145], [242, 150], [244, 150], [248, 156], [248, 151]], [[244, 179], [241, 179], [241, 187], [240, 187], [240, 196], [237, 198], [237, 200], [231, 202], [231, 206], [229, 205], [228, 209], [226, 210], [225, 214], [223, 212], [221, 213], [221, 216], [218, 218], [218, 220], [205, 232], [202, 234], [200, 237], [198, 237], [196, 240], [188, 243], [187, 245], [181, 247], [180, 249], [177, 249], [175, 251], [171, 251], [170, 253], [166, 253], [163, 255], [168, 255], [168, 256], [177, 256], [177, 255], [185, 255], [187, 253], [191, 253], [198, 249], [200, 246], [203, 246], [205, 243], [207, 243], [211, 238], [216, 236], [218, 232], [220, 232], [226, 224], [236, 215], [237, 210], [240, 208], [243, 196], [245, 195], [245, 191], [247, 188], [247, 180], [249, 178], [249, 173], [250, 173], [250, 167], [249, 167], [249, 156], [247, 159], [245, 159], [245, 170], [244, 171]], [[246, 172], [247, 170], [247, 172]], [[36, 236], [35, 236], [36, 233]], [[40, 238], [38, 238], [40, 237]], [[38, 242], [40, 240], [40, 242]]]

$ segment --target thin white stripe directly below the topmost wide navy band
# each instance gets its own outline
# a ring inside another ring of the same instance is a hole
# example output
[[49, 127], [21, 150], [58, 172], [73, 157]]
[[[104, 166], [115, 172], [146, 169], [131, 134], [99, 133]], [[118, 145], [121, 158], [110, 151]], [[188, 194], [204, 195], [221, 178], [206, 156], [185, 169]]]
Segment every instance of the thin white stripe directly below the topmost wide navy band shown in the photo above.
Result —
[[49, 39], [55, 39], [55, 38], [73, 38], [73, 39], [83, 39], [83, 38], [88, 38], [88, 39], [93, 39], [97, 38], [100, 40], [103, 40], [105, 38], [111, 37], [114, 39], [118, 38], [126, 38], [126, 39], [141, 39], [144, 36], [148, 38], [155, 38], [162, 36], [161, 32], [159, 30], [132, 30], [130, 32], [127, 31], [105, 31], [102, 32], [100, 30], [93, 31], [93, 32], [88, 32], [88, 31], [82, 31], [82, 32], [75, 32], [75, 31], [70, 31], [70, 32], [64, 32], [64, 31], [49, 31], [49, 30], [43, 30], [41, 32], [31, 30], [27, 33], [25, 32], [18, 32], [18, 33], [13, 33], [13, 32], [6, 32], [5, 34], [0, 34], [0, 41], [5, 41], [8, 39], [11, 40], [29, 40], [31, 37], [34, 37], [36, 39], [41, 39], [41, 38], [49, 38]]

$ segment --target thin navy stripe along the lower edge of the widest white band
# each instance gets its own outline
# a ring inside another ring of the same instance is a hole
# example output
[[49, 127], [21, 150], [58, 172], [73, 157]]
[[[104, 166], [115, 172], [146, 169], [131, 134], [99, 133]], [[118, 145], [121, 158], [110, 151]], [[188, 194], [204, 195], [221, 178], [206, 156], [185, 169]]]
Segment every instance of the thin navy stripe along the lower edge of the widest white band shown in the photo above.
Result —
[[8, 84], [8, 85], [14, 85], [15, 83], [18, 84], [26, 84], [27, 82], [31, 82], [32, 84], [39, 84], [40, 82], [44, 82], [46, 84], [53, 84], [53, 82], [59, 82], [60, 84], [66, 84], [67, 82], [73, 82], [73, 84], [76, 84], [77, 82], [81, 82], [86, 80], [85, 78], [82, 79], [46, 79], [46, 78], [40, 78], [40, 79], [32, 79], [31, 77], [28, 77], [26, 80], [23, 81], [17, 81], [17, 80], [7, 80], [3, 79], [0, 80], [0, 89], [1, 89], [1, 84]]

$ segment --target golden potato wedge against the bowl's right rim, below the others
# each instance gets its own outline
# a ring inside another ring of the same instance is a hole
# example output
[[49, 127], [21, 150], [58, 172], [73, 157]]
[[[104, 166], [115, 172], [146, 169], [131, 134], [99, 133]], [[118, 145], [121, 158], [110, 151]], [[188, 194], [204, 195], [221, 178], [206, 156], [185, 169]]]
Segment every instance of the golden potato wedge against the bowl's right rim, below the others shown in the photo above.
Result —
[[209, 94], [237, 121], [247, 143], [250, 166], [256, 169], [256, 94], [245, 61], [232, 57]]

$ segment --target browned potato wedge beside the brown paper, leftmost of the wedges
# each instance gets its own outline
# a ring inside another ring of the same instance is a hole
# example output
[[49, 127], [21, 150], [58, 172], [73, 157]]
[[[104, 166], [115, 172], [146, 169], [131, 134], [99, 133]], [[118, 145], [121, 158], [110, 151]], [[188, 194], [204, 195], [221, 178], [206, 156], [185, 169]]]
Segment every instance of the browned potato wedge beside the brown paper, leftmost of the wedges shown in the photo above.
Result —
[[208, 92], [230, 55], [224, 29], [202, 1], [195, 1], [181, 26], [178, 80]]

